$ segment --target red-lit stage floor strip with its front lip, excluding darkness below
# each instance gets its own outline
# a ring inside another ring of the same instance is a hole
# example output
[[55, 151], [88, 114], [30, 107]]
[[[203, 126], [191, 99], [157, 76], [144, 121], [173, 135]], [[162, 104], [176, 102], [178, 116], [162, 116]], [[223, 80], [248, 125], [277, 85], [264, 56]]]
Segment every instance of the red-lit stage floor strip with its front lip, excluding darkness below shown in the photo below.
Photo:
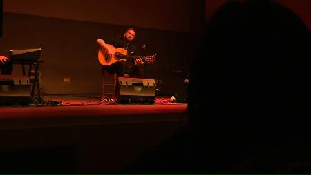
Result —
[[187, 104], [158, 96], [154, 104], [104, 104], [100, 95], [45, 95], [43, 105], [1, 106], [0, 130], [180, 121]]

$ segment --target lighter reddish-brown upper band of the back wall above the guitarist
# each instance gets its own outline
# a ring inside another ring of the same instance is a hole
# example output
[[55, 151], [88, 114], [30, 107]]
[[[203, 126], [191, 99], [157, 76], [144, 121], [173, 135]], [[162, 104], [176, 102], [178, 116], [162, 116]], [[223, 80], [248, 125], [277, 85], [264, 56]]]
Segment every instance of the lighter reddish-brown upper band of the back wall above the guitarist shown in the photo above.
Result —
[[203, 3], [203, 0], [3, 0], [3, 10], [40, 17], [194, 32], [200, 25], [198, 16], [203, 15]]

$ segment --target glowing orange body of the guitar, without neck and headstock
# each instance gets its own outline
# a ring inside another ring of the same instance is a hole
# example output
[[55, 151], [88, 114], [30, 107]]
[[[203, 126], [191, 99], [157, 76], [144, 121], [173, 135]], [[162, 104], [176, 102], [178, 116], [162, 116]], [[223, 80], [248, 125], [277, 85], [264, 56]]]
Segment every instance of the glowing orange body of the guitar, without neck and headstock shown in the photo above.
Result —
[[[106, 49], [110, 50], [113, 54], [111, 58], [106, 54]], [[113, 45], [106, 44], [106, 48], [100, 48], [100, 50], [98, 50], [98, 61], [100, 61], [102, 65], [112, 65], [117, 61], [125, 60], [117, 58], [117, 54], [126, 55], [127, 51], [124, 48], [115, 48]]]

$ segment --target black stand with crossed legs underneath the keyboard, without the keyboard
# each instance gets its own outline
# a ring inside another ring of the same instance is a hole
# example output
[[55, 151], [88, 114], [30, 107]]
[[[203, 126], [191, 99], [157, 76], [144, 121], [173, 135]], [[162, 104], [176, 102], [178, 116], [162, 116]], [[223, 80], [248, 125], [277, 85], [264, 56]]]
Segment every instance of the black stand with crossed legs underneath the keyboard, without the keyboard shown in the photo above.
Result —
[[[31, 76], [31, 68], [32, 65], [35, 68], [35, 72], [34, 72], [34, 79], [32, 82], [32, 87], [30, 87], [30, 100], [32, 101], [32, 103], [35, 101], [35, 90], [37, 89], [37, 99], [39, 104], [43, 104], [43, 99], [42, 99], [42, 92], [40, 89], [40, 85], [39, 85], [39, 64], [40, 63], [44, 63], [43, 60], [37, 60], [37, 61], [12, 61], [13, 64], [21, 64], [21, 68], [23, 70], [23, 75], [26, 75], [26, 71], [25, 71], [25, 65], [29, 65], [29, 70], [28, 70], [28, 77], [30, 80], [30, 76]], [[30, 81], [31, 82], [31, 81]]]

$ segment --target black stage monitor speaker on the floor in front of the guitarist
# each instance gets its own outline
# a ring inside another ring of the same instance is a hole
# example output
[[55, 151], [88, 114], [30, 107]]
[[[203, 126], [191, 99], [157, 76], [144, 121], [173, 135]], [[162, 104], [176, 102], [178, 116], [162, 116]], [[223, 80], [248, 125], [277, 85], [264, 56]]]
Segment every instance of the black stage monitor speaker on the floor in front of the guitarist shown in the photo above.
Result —
[[156, 97], [156, 81], [154, 79], [136, 79], [119, 77], [118, 103], [153, 104]]

